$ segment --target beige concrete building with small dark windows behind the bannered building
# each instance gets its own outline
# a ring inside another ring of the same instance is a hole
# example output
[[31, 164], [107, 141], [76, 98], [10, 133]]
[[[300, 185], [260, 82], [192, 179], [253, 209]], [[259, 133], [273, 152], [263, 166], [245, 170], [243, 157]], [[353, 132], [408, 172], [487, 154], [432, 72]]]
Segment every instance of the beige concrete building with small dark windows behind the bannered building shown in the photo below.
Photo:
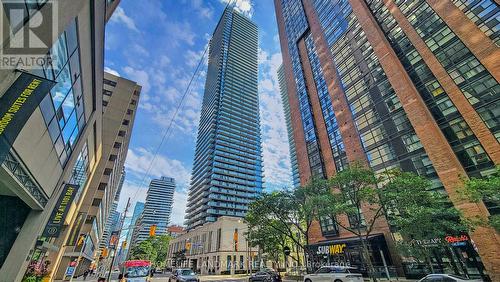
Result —
[[[102, 115], [102, 129], [98, 132], [101, 143], [96, 148], [101, 156], [94, 164], [95, 171], [87, 182], [89, 189], [82, 195], [82, 203], [77, 209], [77, 214], [84, 215], [85, 219], [81, 224], [63, 232], [64, 236], [69, 236], [68, 238], [88, 234], [87, 242], [92, 242], [92, 248], [87, 247], [81, 252], [83, 246], [75, 244], [74, 239], [68, 239], [66, 247], [60, 250], [64, 251], [63, 255], [59, 254], [52, 261], [55, 279], [64, 277], [68, 264], [74, 261], [80, 252], [82, 259], [76, 273], [83, 273], [95, 258], [100, 257], [102, 248], [108, 245], [112, 231], [112, 227], [108, 227], [106, 223], [112, 224], [114, 221], [111, 219], [117, 214], [116, 207], [125, 178], [124, 163], [132, 136], [141, 86], [110, 73], [104, 73], [101, 81], [103, 83], [100, 84], [99, 93], [102, 94], [98, 108]], [[118, 226], [121, 227], [121, 222]]]

